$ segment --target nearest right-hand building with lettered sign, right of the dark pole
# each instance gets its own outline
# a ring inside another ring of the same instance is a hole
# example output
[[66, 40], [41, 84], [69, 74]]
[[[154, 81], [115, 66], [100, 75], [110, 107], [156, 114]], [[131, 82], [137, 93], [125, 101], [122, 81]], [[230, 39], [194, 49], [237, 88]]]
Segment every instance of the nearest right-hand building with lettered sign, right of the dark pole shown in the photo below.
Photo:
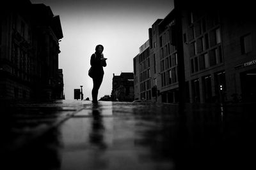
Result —
[[238, 9], [182, 11], [191, 103], [256, 101], [256, 22]]

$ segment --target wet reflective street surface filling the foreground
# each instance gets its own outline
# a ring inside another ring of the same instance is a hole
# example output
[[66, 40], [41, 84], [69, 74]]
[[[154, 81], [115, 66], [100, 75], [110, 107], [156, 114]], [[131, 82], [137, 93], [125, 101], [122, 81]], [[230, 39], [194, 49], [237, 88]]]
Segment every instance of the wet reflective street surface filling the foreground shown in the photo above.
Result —
[[255, 104], [2, 103], [4, 169], [255, 169]]

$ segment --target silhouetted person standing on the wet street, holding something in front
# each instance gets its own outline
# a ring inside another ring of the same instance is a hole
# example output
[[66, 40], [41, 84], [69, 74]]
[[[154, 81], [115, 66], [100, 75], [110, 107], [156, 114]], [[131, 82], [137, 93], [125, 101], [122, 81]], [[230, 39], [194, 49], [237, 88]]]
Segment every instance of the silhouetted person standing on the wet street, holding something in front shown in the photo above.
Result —
[[103, 67], [106, 67], [106, 58], [103, 55], [104, 47], [102, 45], [97, 45], [95, 48], [95, 53], [91, 56], [91, 66], [93, 70], [93, 89], [92, 89], [92, 102], [98, 103], [97, 97], [100, 85], [103, 80], [104, 70]]

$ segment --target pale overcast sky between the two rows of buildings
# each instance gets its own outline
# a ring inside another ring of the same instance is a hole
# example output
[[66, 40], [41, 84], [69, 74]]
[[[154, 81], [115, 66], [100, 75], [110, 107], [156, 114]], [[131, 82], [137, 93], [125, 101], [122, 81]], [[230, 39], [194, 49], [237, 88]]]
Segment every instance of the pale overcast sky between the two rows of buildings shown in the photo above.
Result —
[[90, 57], [96, 45], [104, 46], [104, 78], [98, 99], [111, 95], [113, 73], [133, 72], [133, 58], [148, 40], [148, 28], [157, 18], [173, 10], [173, 0], [31, 0], [51, 7], [60, 15], [59, 68], [63, 69], [66, 99], [74, 99], [74, 89], [83, 85], [84, 99], [92, 99], [92, 78], [88, 76]]

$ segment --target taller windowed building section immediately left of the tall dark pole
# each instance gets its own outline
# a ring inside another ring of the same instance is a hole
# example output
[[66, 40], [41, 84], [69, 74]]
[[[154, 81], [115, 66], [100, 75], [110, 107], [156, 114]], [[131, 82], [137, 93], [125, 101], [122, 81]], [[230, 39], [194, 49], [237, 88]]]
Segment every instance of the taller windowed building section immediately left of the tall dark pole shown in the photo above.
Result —
[[158, 19], [149, 29], [150, 57], [156, 64], [153, 78], [156, 81], [157, 100], [163, 103], [179, 102], [177, 73], [177, 48], [173, 45], [172, 29], [175, 25], [175, 11], [164, 19]]

